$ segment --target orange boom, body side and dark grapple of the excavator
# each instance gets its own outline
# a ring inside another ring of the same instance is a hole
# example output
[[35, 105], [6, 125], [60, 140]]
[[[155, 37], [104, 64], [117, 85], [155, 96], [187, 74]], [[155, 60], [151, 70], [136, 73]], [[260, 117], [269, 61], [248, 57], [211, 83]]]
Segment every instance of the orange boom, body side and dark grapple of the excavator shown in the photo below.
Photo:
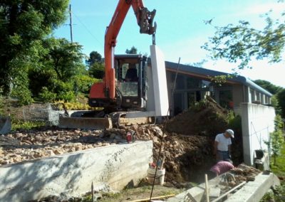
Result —
[[135, 17], [137, 18], [138, 26], [140, 26], [140, 33], [150, 35], [155, 33], [156, 24], [152, 25], [155, 10], [148, 11], [143, 5], [142, 0], [120, 0], [105, 32], [105, 78], [103, 83], [98, 83], [91, 87], [90, 97], [107, 102], [115, 100], [114, 47], [116, 46], [118, 33], [130, 6], [135, 11]]

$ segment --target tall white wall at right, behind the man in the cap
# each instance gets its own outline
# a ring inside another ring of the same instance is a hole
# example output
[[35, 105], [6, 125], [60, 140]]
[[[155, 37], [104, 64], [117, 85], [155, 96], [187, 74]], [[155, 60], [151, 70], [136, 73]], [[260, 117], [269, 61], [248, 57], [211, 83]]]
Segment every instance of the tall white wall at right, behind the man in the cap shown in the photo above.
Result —
[[244, 163], [254, 164], [254, 150], [266, 149], [264, 141], [269, 140], [269, 133], [274, 131], [274, 107], [241, 103], [242, 140], [244, 146]]

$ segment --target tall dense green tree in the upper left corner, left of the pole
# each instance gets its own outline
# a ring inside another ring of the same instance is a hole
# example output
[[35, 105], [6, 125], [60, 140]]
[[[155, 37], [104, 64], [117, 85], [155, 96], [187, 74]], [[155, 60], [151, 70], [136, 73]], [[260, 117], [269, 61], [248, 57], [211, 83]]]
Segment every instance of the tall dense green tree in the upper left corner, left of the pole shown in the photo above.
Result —
[[19, 85], [28, 65], [36, 65], [41, 39], [64, 22], [67, 7], [68, 0], [1, 1], [0, 93], [8, 95], [11, 83]]

